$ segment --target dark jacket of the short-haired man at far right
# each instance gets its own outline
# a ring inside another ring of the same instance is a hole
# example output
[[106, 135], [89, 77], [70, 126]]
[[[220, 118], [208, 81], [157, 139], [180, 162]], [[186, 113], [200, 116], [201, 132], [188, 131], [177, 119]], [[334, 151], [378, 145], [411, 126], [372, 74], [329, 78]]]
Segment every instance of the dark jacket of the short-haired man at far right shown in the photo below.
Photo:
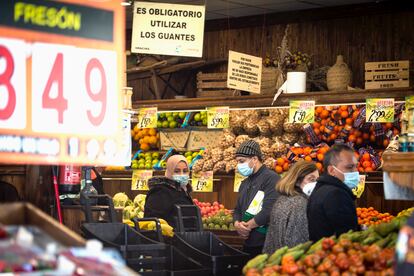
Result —
[[358, 230], [354, 201], [351, 189], [341, 180], [331, 175], [321, 176], [308, 201], [310, 240]]

